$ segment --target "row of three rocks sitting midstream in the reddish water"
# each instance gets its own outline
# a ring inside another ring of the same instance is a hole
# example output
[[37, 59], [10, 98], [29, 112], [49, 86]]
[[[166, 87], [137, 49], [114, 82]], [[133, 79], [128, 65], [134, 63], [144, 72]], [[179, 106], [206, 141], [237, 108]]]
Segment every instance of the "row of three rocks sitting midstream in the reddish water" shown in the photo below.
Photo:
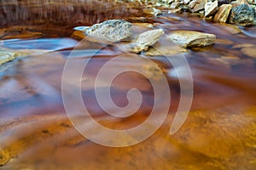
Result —
[[[148, 51], [165, 33], [162, 29], [149, 30], [132, 39], [131, 26], [132, 24], [125, 20], [106, 20], [90, 27], [79, 26], [75, 30], [83, 31], [86, 38], [92, 42], [113, 43], [126, 40], [125, 50], [137, 54]], [[166, 37], [181, 48], [205, 47], [212, 45], [216, 39], [213, 34], [199, 31], [172, 31]], [[152, 54], [151, 51], [150, 55]]]

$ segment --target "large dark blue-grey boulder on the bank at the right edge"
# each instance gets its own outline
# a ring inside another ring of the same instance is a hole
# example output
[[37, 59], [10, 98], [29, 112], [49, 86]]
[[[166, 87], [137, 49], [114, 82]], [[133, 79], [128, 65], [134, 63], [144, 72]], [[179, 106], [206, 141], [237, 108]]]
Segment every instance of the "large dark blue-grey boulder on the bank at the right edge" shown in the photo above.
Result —
[[254, 23], [254, 8], [247, 4], [241, 4], [230, 11], [230, 23], [240, 26], [253, 26]]

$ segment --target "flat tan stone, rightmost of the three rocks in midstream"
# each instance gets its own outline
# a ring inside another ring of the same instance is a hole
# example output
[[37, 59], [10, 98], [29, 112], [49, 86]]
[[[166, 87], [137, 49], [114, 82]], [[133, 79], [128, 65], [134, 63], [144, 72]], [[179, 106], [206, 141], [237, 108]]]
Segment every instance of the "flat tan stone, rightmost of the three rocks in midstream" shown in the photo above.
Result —
[[173, 31], [169, 38], [183, 48], [194, 48], [212, 45], [216, 36], [199, 31]]

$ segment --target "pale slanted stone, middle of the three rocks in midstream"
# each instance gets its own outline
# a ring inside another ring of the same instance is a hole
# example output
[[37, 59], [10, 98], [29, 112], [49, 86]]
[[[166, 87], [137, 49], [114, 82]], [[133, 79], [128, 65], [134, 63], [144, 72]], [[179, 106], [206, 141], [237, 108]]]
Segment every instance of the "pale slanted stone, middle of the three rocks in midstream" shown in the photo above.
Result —
[[134, 42], [131, 42], [130, 51], [140, 53], [143, 50], [148, 50], [148, 47], [154, 45], [164, 33], [162, 29], [143, 32]]

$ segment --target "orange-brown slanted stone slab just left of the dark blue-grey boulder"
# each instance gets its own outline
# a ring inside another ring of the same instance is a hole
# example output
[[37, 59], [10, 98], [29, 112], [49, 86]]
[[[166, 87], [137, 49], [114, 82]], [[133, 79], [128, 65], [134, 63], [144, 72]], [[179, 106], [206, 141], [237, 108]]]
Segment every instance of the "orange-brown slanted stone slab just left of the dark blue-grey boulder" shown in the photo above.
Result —
[[218, 8], [218, 12], [214, 15], [213, 20], [217, 22], [226, 22], [229, 18], [231, 4], [223, 4]]

